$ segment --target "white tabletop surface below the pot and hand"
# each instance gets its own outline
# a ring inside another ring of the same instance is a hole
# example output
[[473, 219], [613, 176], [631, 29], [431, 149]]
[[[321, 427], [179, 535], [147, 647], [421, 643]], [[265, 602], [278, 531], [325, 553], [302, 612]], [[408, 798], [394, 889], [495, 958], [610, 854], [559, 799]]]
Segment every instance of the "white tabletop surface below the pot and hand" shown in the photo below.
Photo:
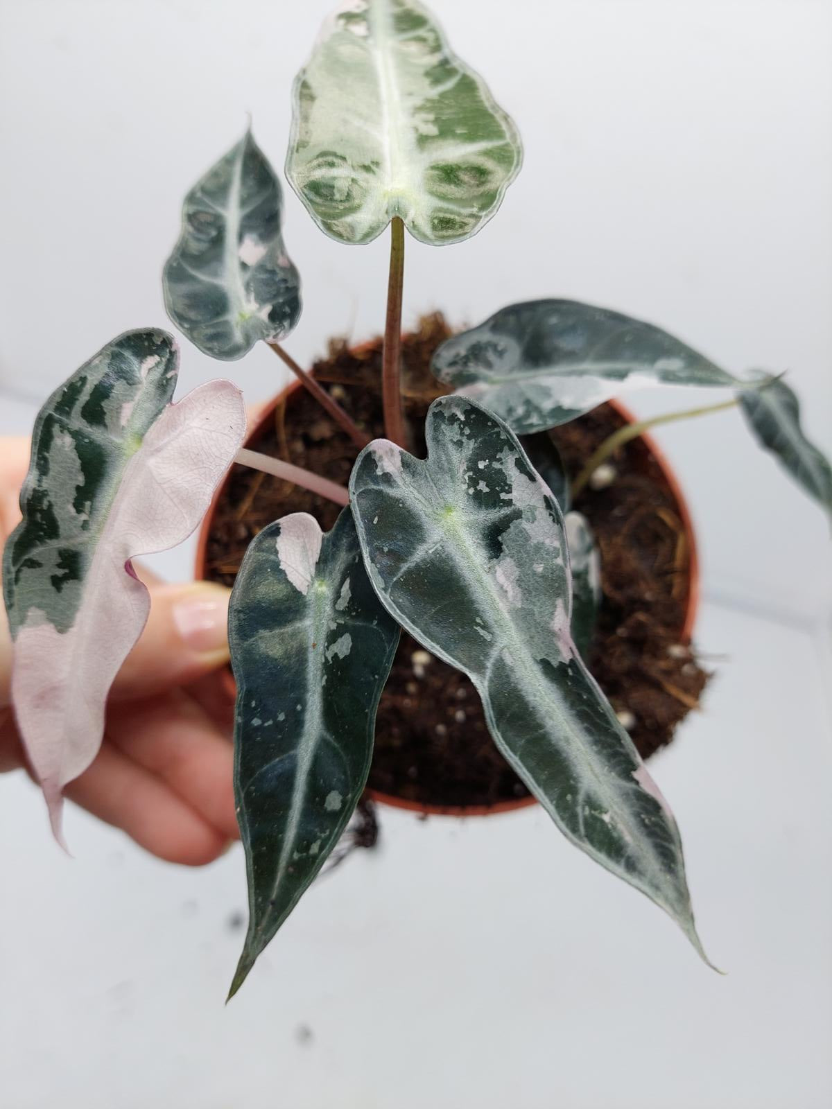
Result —
[[7, 776], [0, 1105], [826, 1109], [832, 760], [816, 655], [805, 631], [712, 607], [700, 641], [729, 659], [653, 769], [727, 977], [540, 811], [423, 823], [385, 810], [378, 853], [318, 882], [224, 1008], [240, 849], [201, 872], [165, 866], [70, 810], [69, 862], [33, 788]]

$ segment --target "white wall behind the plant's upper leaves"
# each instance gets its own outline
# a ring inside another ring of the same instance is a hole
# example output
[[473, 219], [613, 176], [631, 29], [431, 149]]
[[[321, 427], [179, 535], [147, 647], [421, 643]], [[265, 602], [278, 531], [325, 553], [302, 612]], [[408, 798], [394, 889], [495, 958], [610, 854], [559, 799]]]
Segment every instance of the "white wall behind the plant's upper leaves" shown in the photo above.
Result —
[[[185, 190], [253, 113], [275, 166], [290, 84], [329, 0], [0, 0], [0, 381], [42, 396], [118, 333], [164, 324], [160, 272]], [[468, 243], [407, 245], [406, 318], [477, 323], [571, 296], [643, 316], [729, 369], [789, 370], [832, 450], [832, 4], [812, 0], [443, 0], [451, 43], [513, 114], [526, 162]], [[506, 23], [506, 12], [510, 22]], [[305, 312], [288, 347], [377, 332], [387, 243], [326, 238], [286, 190]], [[185, 345], [183, 386], [233, 375]], [[639, 410], [707, 399], [677, 390]], [[719, 596], [816, 619], [821, 515], [737, 413], [662, 435]], [[784, 571], [783, 568], [787, 568]]]

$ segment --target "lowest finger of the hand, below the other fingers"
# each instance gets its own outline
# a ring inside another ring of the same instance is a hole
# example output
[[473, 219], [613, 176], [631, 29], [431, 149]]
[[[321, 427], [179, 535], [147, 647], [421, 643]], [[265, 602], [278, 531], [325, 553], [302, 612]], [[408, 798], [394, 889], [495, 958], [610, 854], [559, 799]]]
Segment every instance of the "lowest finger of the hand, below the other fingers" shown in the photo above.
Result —
[[106, 743], [64, 795], [169, 863], [202, 866], [229, 842], [163, 782]]

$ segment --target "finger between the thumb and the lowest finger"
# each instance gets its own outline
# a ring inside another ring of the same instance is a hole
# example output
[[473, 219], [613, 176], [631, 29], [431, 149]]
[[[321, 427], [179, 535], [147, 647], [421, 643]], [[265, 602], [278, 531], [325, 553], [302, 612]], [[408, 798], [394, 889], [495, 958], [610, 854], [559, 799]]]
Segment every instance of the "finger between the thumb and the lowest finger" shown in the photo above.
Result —
[[160, 779], [224, 840], [237, 836], [234, 751], [207, 713], [181, 690], [113, 705], [108, 739]]

